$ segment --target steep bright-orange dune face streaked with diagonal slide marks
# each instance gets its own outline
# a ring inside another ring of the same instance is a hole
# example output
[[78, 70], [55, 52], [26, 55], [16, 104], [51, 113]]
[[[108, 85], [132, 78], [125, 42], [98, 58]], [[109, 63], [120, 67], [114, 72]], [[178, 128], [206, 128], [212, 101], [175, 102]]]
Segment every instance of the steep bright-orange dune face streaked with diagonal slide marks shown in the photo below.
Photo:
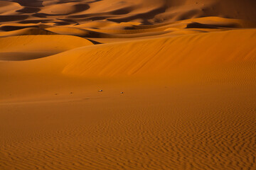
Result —
[[63, 54], [76, 56], [63, 74], [146, 76], [209, 67], [243, 67], [240, 64], [255, 64], [255, 42], [256, 30], [252, 29], [84, 47]]

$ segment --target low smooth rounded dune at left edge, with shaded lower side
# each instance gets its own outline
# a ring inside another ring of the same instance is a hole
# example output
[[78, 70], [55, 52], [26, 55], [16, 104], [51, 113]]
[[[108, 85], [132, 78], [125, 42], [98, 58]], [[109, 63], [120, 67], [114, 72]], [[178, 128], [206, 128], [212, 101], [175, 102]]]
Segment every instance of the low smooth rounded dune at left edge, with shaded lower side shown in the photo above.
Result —
[[73, 48], [93, 45], [70, 35], [22, 35], [0, 38], [0, 60], [33, 60]]

